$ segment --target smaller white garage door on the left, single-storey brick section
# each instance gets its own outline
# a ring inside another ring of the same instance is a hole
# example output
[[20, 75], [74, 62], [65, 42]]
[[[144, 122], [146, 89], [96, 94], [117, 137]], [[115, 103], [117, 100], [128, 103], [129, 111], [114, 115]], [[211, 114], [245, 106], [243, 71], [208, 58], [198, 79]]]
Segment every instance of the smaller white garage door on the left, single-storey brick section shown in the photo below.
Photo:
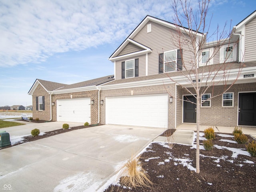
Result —
[[57, 121], [91, 123], [90, 98], [57, 100]]

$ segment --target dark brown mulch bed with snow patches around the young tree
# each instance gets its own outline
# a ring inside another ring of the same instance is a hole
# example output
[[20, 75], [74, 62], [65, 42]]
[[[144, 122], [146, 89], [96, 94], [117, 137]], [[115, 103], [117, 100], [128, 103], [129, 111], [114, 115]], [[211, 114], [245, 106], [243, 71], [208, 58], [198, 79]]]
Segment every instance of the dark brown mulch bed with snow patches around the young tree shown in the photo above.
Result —
[[[247, 135], [250, 142], [253, 140]], [[234, 138], [216, 136], [216, 146], [243, 149], [245, 144], [224, 142]], [[200, 141], [202, 145], [202, 141]], [[240, 192], [256, 191], [256, 158], [239, 154], [227, 149], [200, 150], [200, 173], [188, 169], [181, 163], [187, 160], [196, 168], [196, 149], [176, 144], [173, 149], [153, 142], [140, 156], [143, 168], [154, 183], [151, 188], [127, 188], [111, 185], [105, 192]]]

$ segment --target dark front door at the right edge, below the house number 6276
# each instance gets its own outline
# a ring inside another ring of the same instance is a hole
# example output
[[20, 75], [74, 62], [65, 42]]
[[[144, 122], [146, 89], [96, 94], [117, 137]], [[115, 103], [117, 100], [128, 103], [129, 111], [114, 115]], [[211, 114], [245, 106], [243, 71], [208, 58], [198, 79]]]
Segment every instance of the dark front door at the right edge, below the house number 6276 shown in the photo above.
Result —
[[256, 93], [240, 93], [238, 125], [256, 126]]

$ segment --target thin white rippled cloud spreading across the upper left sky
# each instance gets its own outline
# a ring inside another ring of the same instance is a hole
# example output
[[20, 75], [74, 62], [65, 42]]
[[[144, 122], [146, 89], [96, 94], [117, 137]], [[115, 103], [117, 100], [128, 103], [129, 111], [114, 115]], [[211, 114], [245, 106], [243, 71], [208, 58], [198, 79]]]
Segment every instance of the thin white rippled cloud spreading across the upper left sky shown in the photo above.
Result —
[[6, 0], [0, 13], [0, 66], [15, 66], [120, 41], [147, 14], [170, 13], [170, 5], [164, 0]]

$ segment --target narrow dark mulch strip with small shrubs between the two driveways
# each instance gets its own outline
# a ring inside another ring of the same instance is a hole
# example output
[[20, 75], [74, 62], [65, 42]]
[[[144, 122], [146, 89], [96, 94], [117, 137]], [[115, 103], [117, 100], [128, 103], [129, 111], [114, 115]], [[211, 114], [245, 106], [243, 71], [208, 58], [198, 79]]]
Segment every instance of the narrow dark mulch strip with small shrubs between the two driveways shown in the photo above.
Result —
[[[44, 121], [45, 122], [45, 121]], [[30, 142], [30, 141], [35, 141], [35, 140], [38, 140], [38, 139], [42, 139], [42, 138], [46, 138], [46, 137], [50, 137], [50, 136], [54, 136], [54, 135], [58, 135], [58, 134], [61, 134], [61, 133], [65, 133], [65, 132], [69, 132], [69, 131], [73, 131], [73, 130], [78, 130], [78, 129], [84, 129], [84, 128], [88, 128], [88, 127], [92, 127], [92, 126], [99, 126], [100, 124], [97, 124], [97, 125], [89, 125], [89, 126], [76, 126], [76, 127], [71, 127], [69, 129], [56, 129], [56, 130], [52, 130], [52, 131], [48, 131], [48, 132], [44, 132], [43, 135], [39, 135], [39, 136], [25, 136], [23, 137], [23, 140], [20, 141], [20, 142], [17, 142], [16, 144], [14, 145], [9, 145], [9, 146], [5, 146], [5, 147], [1, 147], [1, 149], [5, 149], [5, 148], [9, 148], [9, 147], [12, 147], [12, 146], [16, 146], [16, 145], [20, 145], [22, 143], [26, 143], [26, 142]]]

